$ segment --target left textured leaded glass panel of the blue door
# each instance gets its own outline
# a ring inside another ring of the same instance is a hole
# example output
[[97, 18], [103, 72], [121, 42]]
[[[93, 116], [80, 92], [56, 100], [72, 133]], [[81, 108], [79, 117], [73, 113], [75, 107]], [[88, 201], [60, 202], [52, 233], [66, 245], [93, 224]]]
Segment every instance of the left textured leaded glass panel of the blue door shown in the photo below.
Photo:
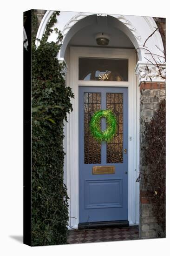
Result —
[[95, 111], [101, 109], [101, 93], [84, 94], [85, 163], [101, 163], [101, 143], [91, 135], [89, 122]]

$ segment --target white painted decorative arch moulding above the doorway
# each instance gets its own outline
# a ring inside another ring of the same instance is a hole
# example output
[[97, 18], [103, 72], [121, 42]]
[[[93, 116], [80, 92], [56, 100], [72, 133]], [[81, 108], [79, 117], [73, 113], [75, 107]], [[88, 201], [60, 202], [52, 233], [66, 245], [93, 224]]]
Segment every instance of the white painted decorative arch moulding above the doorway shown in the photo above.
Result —
[[[51, 15], [54, 11], [47, 11], [40, 23], [39, 30], [37, 33], [37, 38], [41, 40], [42, 35], [45, 32], [46, 24], [51, 18]], [[134, 16], [134, 15], [118, 15], [118, 14], [98, 14], [98, 13], [78, 13], [78, 12], [61, 12], [57, 22], [54, 24], [54, 27], [58, 27], [60, 31], [62, 31], [63, 44], [59, 51], [58, 58], [63, 58], [65, 54], [65, 49], [72, 38], [72, 36], [78, 32], [79, 29], [85, 27], [85, 17], [91, 15], [99, 15], [99, 16], [112, 16], [116, 18], [114, 20], [114, 27], [120, 29], [124, 34], [126, 34], [130, 40], [132, 41], [135, 48], [142, 47], [144, 41], [148, 38], [150, 34], [152, 34], [157, 27], [154, 19], [152, 17], [142, 17], [142, 16]], [[87, 25], [90, 25], [89, 23]], [[91, 24], [92, 25], [92, 24]], [[53, 27], [53, 28], [54, 28]], [[69, 33], [68, 33], [69, 32]], [[56, 39], [55, 31], [52, 32], [48, 41], [52, 41]], [[160, 54], [160, 50], [155, 46], [157, 46], [163, 50], [163, 41], [159, 31], [153, 34], [152, 37], [147, 41], [147, 49], [150, 50], [153, 54]], [[36, 46], [39, 46], [39, 41], [36, 40]], [[146, 61], [145, 57], [150, 57], [147, 51], [144, 49], [137, 50], [138, 59], [140, 61]], [[163, 61], [163, 60], [162, 60]]]

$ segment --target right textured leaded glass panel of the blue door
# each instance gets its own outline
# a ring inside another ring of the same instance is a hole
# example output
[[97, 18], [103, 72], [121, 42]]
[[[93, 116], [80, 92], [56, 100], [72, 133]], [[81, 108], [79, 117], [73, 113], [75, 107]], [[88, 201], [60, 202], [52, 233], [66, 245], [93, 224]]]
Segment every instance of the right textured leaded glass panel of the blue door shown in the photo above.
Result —
[[107, 143], [107, 163], [123, 162], [123, 94], [107, 93], [107, 109], [116, 115], [118, 129], [116, 136]]

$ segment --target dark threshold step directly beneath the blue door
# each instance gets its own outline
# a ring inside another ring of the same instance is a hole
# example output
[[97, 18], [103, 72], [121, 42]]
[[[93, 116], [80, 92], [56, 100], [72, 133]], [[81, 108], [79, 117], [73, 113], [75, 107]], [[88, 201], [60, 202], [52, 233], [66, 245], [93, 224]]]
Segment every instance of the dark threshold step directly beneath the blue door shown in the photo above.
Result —
[[82, 222], [78, 223], [78, 229], [124, 228], [129, 227], [129, 221], [109, 222]]

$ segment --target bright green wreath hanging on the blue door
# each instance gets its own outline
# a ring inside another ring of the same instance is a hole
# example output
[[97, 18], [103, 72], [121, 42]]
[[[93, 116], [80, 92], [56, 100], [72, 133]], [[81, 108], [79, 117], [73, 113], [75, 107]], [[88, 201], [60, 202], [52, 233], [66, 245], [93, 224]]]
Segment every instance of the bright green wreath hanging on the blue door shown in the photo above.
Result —
[[[105, 131], [101, 131], [100, 128], [100, 119], [105, 117], [107, 129]], [[116, 135], [117, 131], [117, 121], [116, 116], [111, 110], [98, 110], [92, 116], [90, 121], [90, 131], [93, 137], [98, 141], [111, 141], [113, 136]]]

